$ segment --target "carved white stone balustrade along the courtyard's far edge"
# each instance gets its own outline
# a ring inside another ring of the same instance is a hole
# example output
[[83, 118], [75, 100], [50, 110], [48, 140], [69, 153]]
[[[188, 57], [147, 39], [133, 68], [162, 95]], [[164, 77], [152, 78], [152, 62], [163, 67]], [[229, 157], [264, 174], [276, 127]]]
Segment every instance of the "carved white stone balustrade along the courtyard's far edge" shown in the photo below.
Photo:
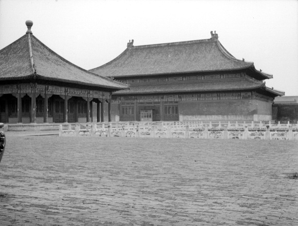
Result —
[[[271, 126], [271, 127], [270, 127]], [[60, 136], [160, 137], [196, 139], [271, 139], [298, 140], [297, 124], [265, 124], [262, 122], [224, 123], [109, 123], [96, 125], [60, 125]], [[259, 127], [262, 127], [260, 129]], [[82, 129], [81, 129], [82, 128]]]

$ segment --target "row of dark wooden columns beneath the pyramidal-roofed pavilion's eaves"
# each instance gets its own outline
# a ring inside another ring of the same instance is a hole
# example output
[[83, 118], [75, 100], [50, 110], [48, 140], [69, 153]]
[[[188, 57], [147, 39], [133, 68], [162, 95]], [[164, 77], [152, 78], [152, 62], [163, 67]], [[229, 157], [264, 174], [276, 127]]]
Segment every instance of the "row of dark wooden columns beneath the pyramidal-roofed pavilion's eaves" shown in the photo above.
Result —
[[[44, 94], [44, 123], [48, 122], [48, 94]], [[70, 96], [64, 96], [64, 122], [68, 122], [68, 100]], [[104, 121], [104, 100], [97, 100], [97, 122]], [[75, 107], [77, 109], [77, 106]], [[55, 111], [55, 110], [53, 110]], [[92, 111], [92, 109], [91, 109]], [[92, 112], [91, 112], [92, 115]], [[108, 121], [112, 121], [111, 117], [111, 98], [108, 101]], [[22, 123], [22, 94], [18, 93], [17, 95], [17, 122]], [[31, 94], [31, 123], [36, 123], [36, 94]], [[86, 122], [90, 122], [90, 98], [87, 97], [87, 113], [86, 113]]]

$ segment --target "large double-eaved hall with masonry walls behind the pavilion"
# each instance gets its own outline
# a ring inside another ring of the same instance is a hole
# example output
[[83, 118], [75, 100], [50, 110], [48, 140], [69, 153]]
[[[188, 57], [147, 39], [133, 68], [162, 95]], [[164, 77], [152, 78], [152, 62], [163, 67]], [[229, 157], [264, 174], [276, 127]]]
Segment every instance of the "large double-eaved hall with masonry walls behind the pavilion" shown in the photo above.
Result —
[[274, 98], [284, 95], [266, 87], [272, 75], [232, 56], [216, 32], [210, 39], [156, 45], [132, 40], [90, 71], [130, 85], [112, 95], [116, 121], [267, 121]]

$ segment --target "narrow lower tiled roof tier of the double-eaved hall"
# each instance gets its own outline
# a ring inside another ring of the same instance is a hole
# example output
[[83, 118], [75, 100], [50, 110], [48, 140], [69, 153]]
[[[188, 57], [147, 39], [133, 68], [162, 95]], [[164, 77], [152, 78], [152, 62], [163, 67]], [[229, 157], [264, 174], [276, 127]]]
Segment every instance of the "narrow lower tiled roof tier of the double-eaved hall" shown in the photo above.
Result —
[[157, 94], [157, 93], [186, 93], [186, 92], [213, 92], [251, 90], [265, 87], [261, 81], [246, 79], [204, 82], [168, 82], [159, 84], [145, 84], [131, 86], [130, 90], [120, 90], [115, 95], [123, 94]]

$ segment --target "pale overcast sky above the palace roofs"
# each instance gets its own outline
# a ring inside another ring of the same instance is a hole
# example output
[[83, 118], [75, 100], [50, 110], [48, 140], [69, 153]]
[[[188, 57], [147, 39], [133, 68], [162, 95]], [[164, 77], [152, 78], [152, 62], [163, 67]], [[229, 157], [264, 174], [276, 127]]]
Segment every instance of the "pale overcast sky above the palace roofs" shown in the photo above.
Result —
[[32, 32], [84, 69], [134, 45], [211, 38], [257, 70], [266, 85], [298, 96], [298, 0], [0, 0], [0, 49]]

